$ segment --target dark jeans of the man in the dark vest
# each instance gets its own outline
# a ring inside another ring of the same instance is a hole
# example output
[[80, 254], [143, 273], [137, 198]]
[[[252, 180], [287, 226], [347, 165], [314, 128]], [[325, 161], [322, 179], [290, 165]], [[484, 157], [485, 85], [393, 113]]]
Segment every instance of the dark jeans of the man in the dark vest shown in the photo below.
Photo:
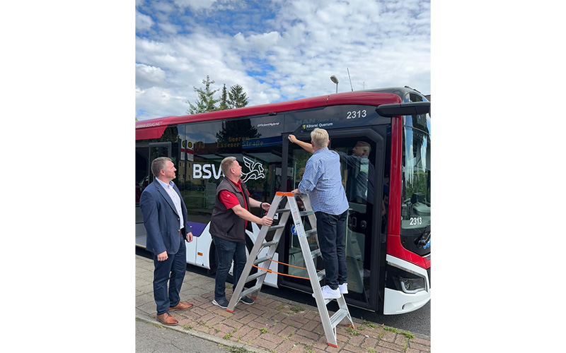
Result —
[[214, 300], [226, 299], [226, 278], [234, 261], [233, 278], [234, 288], [238, 285], [238, 280], [246, 265], [246, 243], [236, 243], [219, 237], [212, 237], [214, 246], [216, 247], [216, 258], [218, 258], [218, 267], [216, 268], [216, 276], [214, 277]]

